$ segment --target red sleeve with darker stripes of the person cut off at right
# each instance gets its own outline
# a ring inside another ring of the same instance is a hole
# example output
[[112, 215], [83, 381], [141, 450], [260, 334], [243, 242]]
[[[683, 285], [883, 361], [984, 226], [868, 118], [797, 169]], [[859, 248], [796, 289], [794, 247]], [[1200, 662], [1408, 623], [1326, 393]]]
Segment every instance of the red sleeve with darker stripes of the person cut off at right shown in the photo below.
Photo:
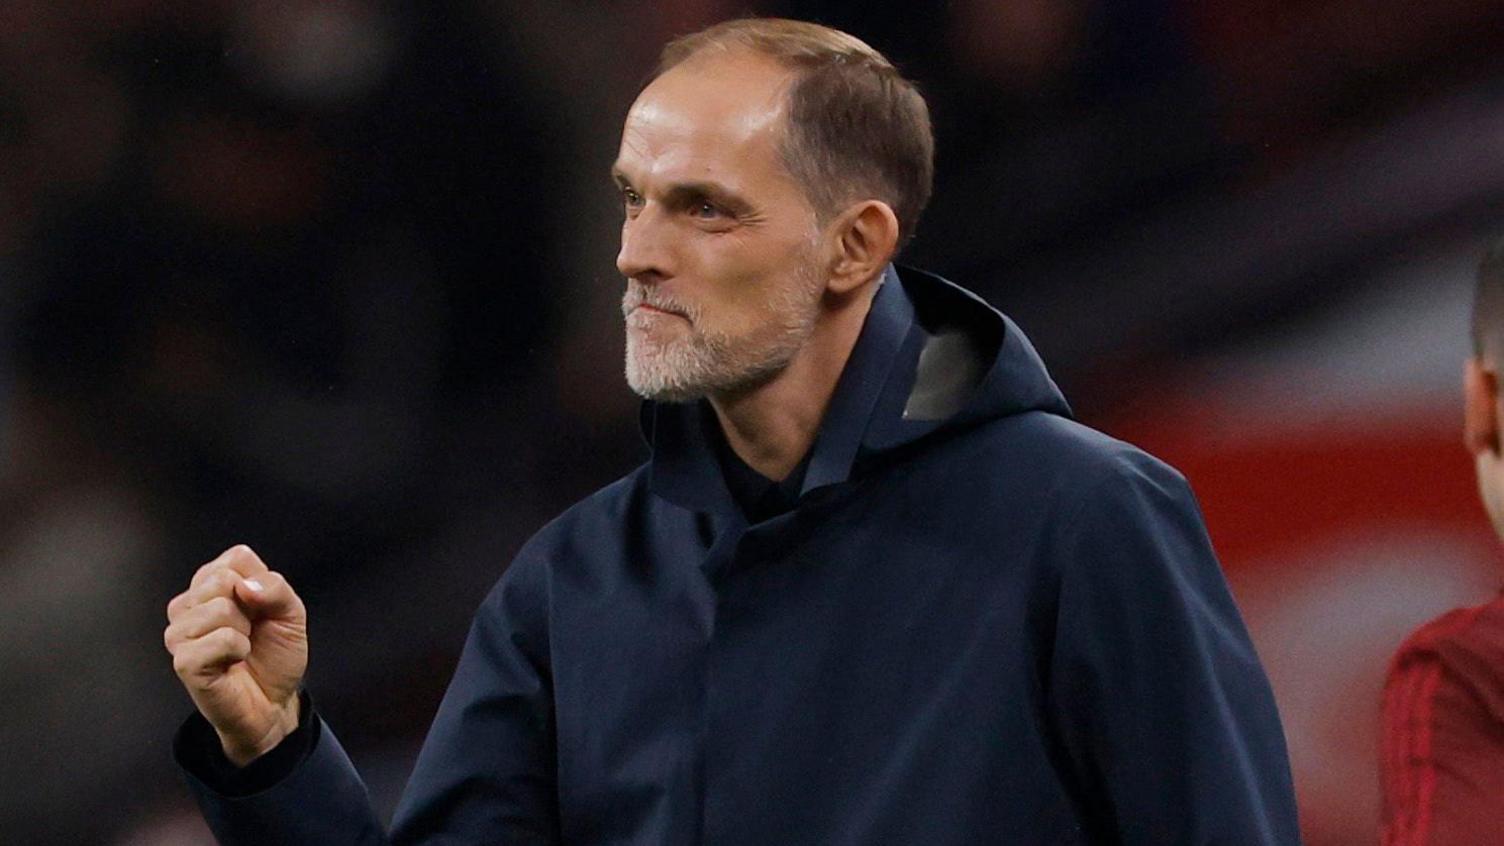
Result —
[[1504, 819], [1504, 605], [1454, 611], [1384, 685], [1382, 846], [1495, 843]]

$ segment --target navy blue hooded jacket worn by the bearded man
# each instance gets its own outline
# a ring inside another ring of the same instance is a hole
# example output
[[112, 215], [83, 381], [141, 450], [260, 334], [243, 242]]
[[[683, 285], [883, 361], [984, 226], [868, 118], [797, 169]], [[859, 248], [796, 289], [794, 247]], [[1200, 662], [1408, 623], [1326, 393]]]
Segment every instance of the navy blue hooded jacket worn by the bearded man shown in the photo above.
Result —
[[221, 841], [1298, 843], [1185, 480], [976, 297], [887, 272], [785, 513], [702, 405], [644, 428], [480, 607], [390, 840], [314, 717], [265, 790], [188, 768]]

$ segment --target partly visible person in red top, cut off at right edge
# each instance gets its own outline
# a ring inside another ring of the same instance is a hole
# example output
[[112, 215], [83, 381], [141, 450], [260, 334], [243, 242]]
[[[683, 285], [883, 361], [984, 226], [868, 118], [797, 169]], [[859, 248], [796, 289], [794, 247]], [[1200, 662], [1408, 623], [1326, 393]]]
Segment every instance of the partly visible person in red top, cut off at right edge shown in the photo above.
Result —
[[[1478, 266], [1472, 357], [1463, 364], [1463, 441], [1483, 509], [1504, 536], [1499, 363], [1504, 241]], [[1390, 665], [1382, 709], [1381, 841], [1498, 843], [1504, 814], [1504, 595], [1426, 623]]]

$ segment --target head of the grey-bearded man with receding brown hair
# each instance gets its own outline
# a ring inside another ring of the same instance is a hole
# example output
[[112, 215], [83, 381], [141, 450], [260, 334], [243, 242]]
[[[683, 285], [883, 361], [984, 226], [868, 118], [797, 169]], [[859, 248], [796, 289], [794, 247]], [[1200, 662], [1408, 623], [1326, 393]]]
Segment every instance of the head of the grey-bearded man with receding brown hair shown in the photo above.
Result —
[[911, 236], [932, 160], [923, 98], [856, 38], [744, 20], [669, 44], [614, 167], [632, 388], [782, 372]]

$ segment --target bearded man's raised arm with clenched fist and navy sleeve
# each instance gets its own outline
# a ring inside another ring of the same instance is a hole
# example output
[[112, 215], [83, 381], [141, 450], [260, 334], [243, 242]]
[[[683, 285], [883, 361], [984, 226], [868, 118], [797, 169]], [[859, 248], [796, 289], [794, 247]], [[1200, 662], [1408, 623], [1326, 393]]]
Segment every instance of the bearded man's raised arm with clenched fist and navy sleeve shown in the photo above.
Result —
[[[302, 602], [244, 546], [168, 607], [199, 714], [174, 744], [226, 846], [558, 841], [544, 571], [519, 560], [481, 604], [388, 835], [334, 732], [302, 711]], [[305, 701], [305, 700], [304, 700]]]

